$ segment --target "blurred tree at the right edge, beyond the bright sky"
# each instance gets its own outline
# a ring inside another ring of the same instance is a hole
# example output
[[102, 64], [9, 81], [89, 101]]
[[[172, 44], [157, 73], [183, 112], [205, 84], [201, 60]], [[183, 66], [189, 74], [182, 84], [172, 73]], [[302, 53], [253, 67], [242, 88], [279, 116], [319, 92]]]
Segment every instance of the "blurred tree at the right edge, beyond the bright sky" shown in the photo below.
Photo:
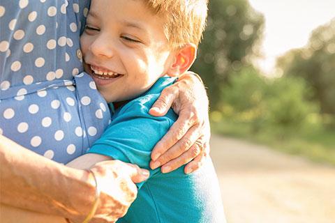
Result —
[[304, 77], [321, 112], [335, 115], [335, 19], [315, 29], [306, 47], [279, 58], [277, 66], [284, 75]]

